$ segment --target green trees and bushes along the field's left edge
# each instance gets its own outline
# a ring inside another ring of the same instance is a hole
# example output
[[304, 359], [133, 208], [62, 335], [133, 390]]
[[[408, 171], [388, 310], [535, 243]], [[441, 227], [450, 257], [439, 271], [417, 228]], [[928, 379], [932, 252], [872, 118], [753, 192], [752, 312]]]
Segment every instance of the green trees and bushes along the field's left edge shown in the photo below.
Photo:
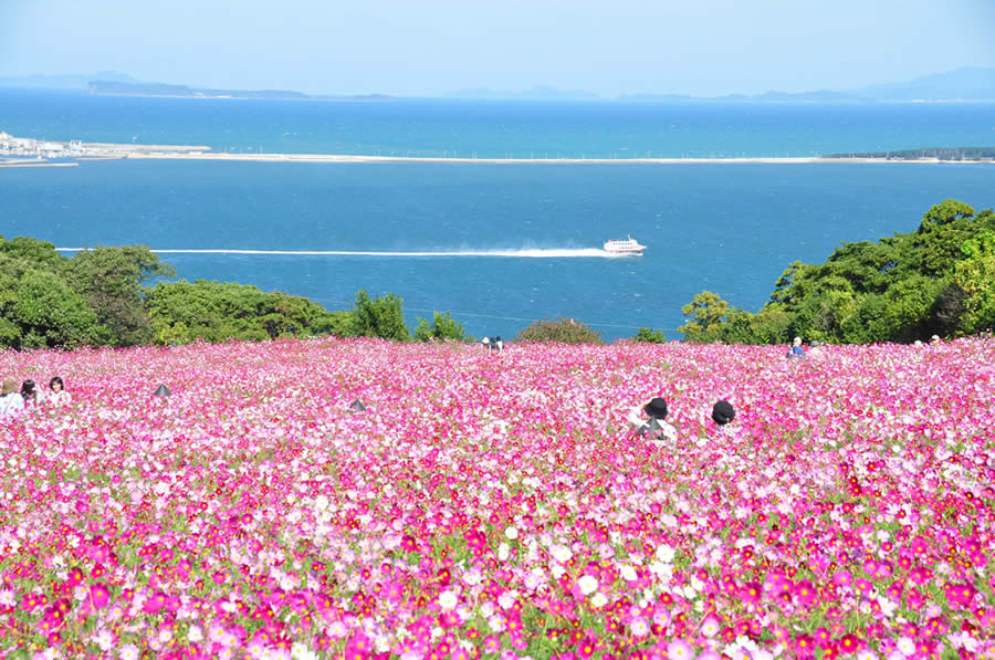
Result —
[[[301, 296], [255, 286], [176, 275], [143, 245], [98, 247], [72, 259], [52, 243], [0, 237], [0, 346], [76, 348], [187, 344], [196, 339], [371, 336], [407, 341], [401, 298], [356, 295], [350, 311], [329, 312]], [[439, 317], [429, 328], [454, 336], [462, 326]]]

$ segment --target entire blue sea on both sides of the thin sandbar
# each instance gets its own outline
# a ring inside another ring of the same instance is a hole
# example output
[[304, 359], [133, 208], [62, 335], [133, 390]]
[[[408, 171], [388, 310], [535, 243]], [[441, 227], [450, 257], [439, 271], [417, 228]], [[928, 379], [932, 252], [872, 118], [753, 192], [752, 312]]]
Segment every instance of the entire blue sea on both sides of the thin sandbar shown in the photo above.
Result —
[[[323, 103], [0, 91], [0, 130], [214, 150], [523, 157], [765, 157], [995, 144], [985, 104]], [[995, 203], [995, 166], [88, 161], [0, 169], [0, 234], [140, 243], [179, 275], [347, 308], [404, 298], [478, 337], [569, 316], [608, 339], [680, 338], [709, 290], [755, 311], [793, 261], [911, 231], [952, 197]], [[595, 249], [631, 235], [645, 256]], [[243, 254], [237, 250], [326, 254]], [[471, 252], [459, 254], [460, 252]]]

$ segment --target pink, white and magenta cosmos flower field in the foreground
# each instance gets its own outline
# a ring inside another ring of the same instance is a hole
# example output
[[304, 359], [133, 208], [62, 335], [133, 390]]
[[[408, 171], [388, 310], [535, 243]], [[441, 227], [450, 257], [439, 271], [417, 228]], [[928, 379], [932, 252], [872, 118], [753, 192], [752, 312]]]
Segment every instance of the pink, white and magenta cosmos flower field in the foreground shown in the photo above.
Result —
[[820, 350], [0, 353], [0, 657], [995, 657], [995, 339]]

